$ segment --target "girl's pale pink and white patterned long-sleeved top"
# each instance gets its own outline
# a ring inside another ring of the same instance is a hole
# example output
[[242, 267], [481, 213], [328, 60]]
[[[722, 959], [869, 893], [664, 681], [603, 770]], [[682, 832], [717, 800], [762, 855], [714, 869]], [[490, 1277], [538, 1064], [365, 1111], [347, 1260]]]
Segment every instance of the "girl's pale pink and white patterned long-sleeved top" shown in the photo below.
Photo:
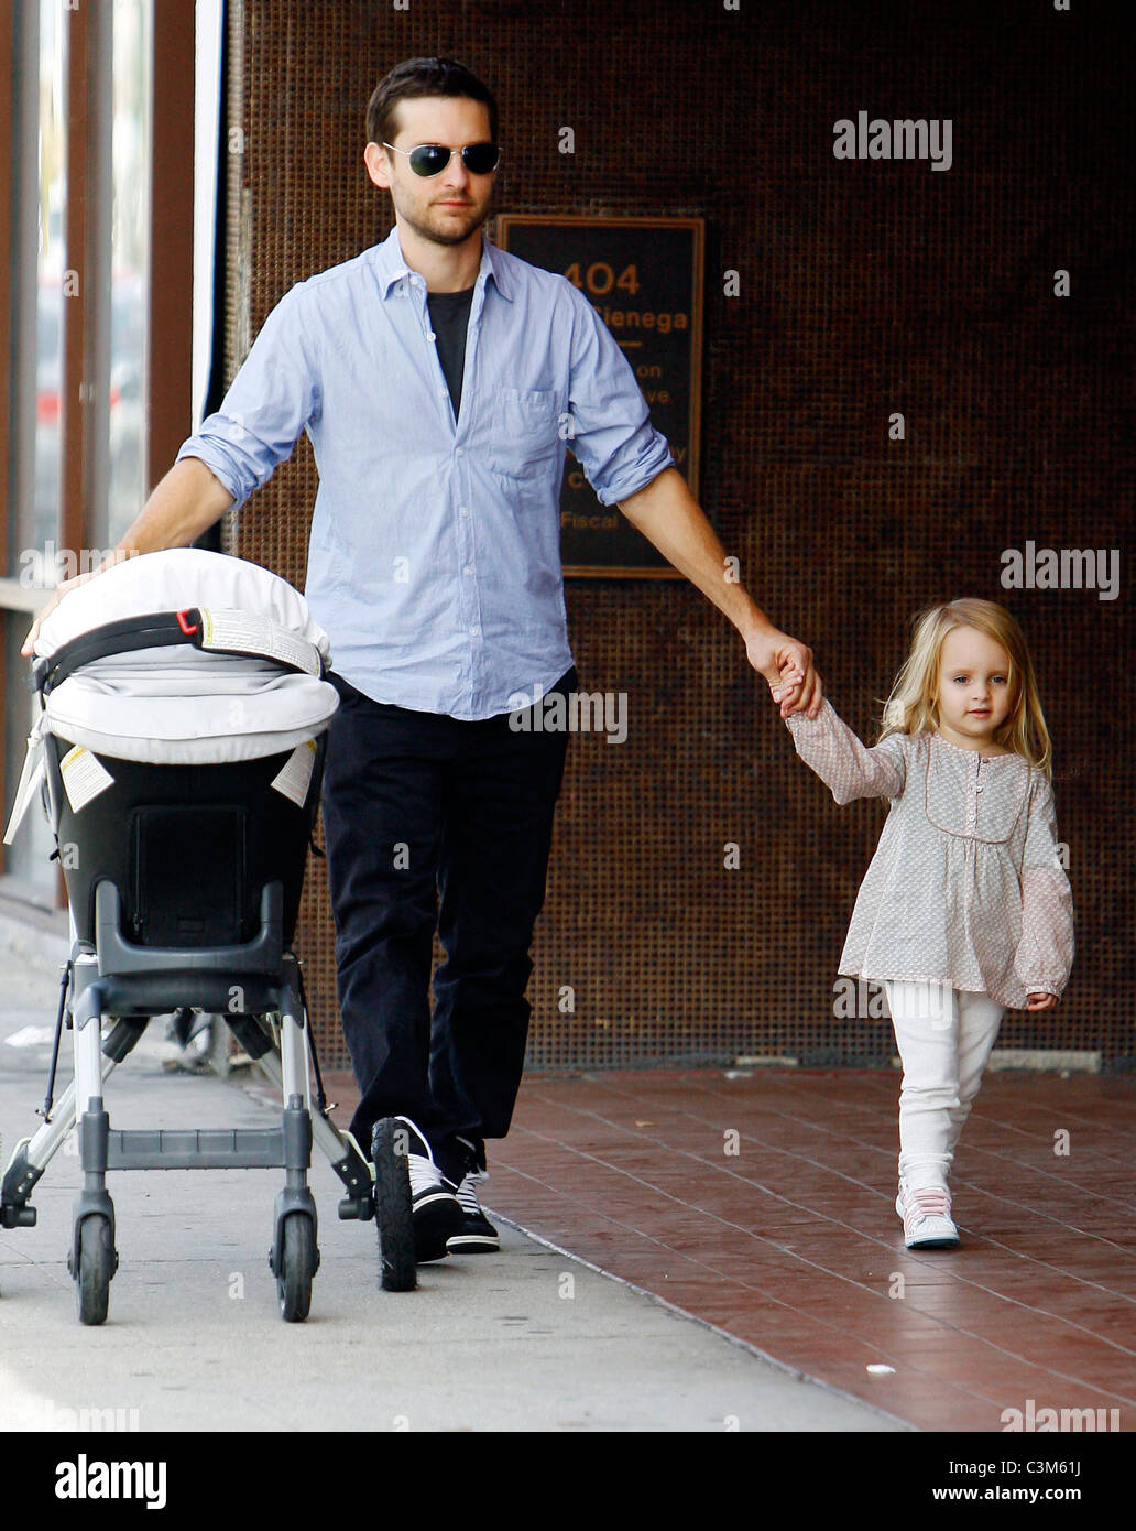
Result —
[[1009, 1009], [1030, 994], [1061, 995], [1073, 896], [1044, 772], [942, 733], [893, 733], [868, 749], [827, 698], [816, 718], [795, 712], [785, 724], [839, 804], [891, 801], [841, 974], [949, 983]]

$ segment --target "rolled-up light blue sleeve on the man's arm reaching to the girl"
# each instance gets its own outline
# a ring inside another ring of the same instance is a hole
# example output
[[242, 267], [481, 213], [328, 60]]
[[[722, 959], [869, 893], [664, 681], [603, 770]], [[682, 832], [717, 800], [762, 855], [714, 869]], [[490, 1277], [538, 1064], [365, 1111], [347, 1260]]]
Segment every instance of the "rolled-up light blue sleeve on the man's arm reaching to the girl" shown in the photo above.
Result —
[[631, 363], [592, 305], [573, 294], [568, 449], [602, 505], [628, 499], [674, 465], [664, 435], [651, 424]]

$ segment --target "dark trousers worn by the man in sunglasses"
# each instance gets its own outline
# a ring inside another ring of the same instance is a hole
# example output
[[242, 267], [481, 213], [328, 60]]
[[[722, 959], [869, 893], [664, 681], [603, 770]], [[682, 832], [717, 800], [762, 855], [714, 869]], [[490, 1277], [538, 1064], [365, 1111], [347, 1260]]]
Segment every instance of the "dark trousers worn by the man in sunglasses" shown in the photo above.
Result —
[[[343, 677], [323, 778], [343, 1033], [363, 1151], [409, 1116], [442, 1165], [452, 1139], [504, 1138], [521, 1087], [565, 732], [513, 732], [364, 697]], [[571, 690], [571, 669], [554, 690]], [[446, 960], [433, 975], [435, 928]]]

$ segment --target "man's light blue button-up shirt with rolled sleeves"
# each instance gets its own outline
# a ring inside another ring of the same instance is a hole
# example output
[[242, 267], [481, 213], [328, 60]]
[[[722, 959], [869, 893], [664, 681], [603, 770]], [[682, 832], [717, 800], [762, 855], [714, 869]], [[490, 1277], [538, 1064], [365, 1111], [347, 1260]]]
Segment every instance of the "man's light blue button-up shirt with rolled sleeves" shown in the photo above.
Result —
[[374, 701], [490, 718], [573, 663], [565, 447], [603, 505], [674, 458], [565, 277], [482, 233], [458, 421], [426, 299], [397, 225], [299, 282], [178, 459], [201, 458], [242, 505], [306, 430], [320, 487], [305, 594], [334, 669]]

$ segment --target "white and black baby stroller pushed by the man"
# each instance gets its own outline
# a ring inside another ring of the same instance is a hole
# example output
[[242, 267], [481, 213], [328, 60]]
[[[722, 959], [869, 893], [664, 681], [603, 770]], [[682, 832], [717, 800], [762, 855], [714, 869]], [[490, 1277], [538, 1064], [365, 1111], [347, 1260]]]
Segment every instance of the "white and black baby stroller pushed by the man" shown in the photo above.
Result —
[[[67, 1269], [80, 1321], [100, 1324], [118, 1269], [109, 1170], [283, 1168], [268, 1263], [280, 1312], [295, 1323], [308, 1317], [320, 1263], [308, 1188], [315, 1142], [346, 1188], [340, 1217], [377, 1220], [381, 1285], [412, 1289], [406, 1130], [397, 1118], [381, 1121], [367, 1160], [329, 1121], [291, 949], [338, 706], [323, 678], [326, 634], [266, 570], [175, 548], [69, 591], [35, 655], [40, 712], [5, 842], [38, 787], [66, 879], [72, 949], [43, 1125], [17, 1144], [0, 1180], [0, 1226], [35, 1225], [31, 1193], [77, 1127], [83, 1190]], [[280, 1089], [279, 1127], [110, 1127], [109, 1075], [155, 1015], [193, 1010], [224, 1017]], [[54, 1105], [64, 1020], [75, 1072]]]

